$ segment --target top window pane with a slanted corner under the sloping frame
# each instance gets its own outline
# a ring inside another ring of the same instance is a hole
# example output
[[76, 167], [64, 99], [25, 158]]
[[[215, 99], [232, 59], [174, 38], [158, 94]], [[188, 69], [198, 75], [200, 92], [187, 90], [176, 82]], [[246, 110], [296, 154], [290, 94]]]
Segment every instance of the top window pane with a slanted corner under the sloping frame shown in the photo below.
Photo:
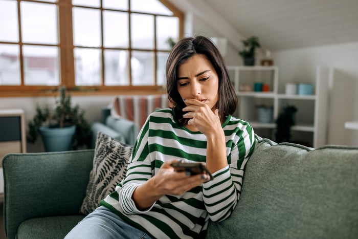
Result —
[[172, 16], [173, 13], [158, 0], [130, 0], [130, 10]]

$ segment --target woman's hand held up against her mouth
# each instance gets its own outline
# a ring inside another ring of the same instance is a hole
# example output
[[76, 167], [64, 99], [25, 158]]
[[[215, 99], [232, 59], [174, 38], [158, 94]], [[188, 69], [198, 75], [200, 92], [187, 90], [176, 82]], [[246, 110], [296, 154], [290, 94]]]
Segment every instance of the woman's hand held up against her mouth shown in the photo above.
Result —
[[207, 137], [214, 133], [213, 129], [222, 129], [217, 109], [213, 112], [209, 105], [196, 99], [187, 98], [185, 104], [187, 106], [183, 108], [183, 111], [188, 113], [183, 115], [183, 118], [189, 119], [189, 125], [195, 126]]

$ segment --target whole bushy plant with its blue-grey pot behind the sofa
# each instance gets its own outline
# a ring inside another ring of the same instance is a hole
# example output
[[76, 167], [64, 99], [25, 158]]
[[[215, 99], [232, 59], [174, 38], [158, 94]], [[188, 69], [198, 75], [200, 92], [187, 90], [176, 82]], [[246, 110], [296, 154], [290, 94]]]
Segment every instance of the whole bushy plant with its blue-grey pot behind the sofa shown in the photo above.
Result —
[[54, 110], [36, 105], [36, 114], [28, 123], [27, 140], [34, 143], [40, 135], [46, 151], [75, 150], [91, 144], [91, 131], [79, 105], [71, 105], [64, 86], [59, 88]]

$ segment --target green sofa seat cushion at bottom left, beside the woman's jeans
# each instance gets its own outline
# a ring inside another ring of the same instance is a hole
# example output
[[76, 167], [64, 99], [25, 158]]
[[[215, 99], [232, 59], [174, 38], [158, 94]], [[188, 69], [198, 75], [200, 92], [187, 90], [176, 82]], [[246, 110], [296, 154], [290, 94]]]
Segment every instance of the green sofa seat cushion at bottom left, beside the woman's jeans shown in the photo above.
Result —
[[83, 215], [72, 215], [29, 219], [21, 223], [18, 227], [17, 238], [63, 239], [83, 218]]

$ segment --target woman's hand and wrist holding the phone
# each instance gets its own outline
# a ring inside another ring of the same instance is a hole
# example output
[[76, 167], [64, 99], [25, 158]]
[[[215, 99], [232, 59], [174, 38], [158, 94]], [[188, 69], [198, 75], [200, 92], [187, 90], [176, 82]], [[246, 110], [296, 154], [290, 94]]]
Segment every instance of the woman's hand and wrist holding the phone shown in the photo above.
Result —
[[139, 185], [133, 192], [132, 199], [140, 210], [149, 208], [163, 195], [182, 195], [190, 189], [210, 180], [206, 174], [188, 175], [176, 172], [170, 165], [177, 160], [163, 163], [159, 171], [148, 181]]

